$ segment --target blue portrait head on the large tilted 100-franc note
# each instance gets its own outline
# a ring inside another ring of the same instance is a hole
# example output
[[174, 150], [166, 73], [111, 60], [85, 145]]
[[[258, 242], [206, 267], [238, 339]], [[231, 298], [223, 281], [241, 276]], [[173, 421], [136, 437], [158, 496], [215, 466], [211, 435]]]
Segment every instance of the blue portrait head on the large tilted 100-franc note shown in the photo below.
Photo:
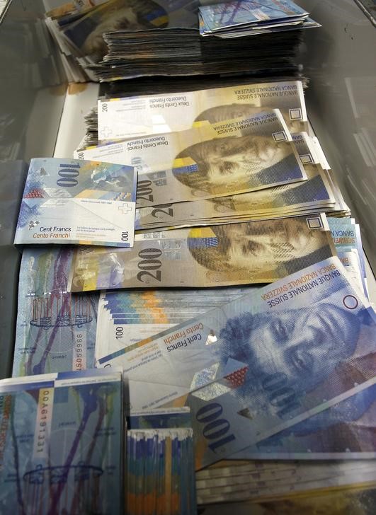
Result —
[[252, 365], [253, 380], [285, 374], [295, 389], [311, 390], [351, 357], [359, 326], [352, 313], [326, 303], [273, 316], [246, 313], [229, 319], [220, 337], [231, 342], [239, 361]]

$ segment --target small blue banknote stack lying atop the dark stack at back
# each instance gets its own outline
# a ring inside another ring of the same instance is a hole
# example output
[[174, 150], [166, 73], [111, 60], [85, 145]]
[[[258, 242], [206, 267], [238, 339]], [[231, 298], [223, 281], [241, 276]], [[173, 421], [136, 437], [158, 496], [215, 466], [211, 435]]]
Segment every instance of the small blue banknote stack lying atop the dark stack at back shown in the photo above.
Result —
[[232, 0], [200, 6], [198, 19], [202, 36], [244, 37], [318, 27], [308, 15], [291, 0]]

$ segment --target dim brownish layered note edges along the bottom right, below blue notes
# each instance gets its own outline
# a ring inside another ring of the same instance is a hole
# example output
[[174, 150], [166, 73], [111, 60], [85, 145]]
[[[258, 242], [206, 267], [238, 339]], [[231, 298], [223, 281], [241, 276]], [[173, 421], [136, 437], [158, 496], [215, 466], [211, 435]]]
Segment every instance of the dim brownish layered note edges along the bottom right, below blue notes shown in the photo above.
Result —
[[[218, 463], [217, 465], [221, 465]], [[329, 504], [336, 492], [340, 490], [343, 501], [346, 491], [375, 488], [376, 462], [241, 462], [236, 465], [233, 461], [223, 461], [222, 466], [213, 466], [207, 470], [199, 470], [196, 473], [196, 487], [198, 504], [210, 504], [214, 502], [236, 501], [263, 501], [269, 502], [279, 499], [275, 503], [276, 511], [266, 511], [267, 514], [283, 515], [315, 515], [325, 513], [331, 515], [342, 514], [372, 514], [370, 511], [362, 511], [360, 504], [355, 504], [350, 511], [346, 510], [348, 504], [341, 502], [335, 507]], [[315, 503], [317, 496], [328, 498], [326, 504]], [[375, 496], [373, 496], [375, 498]], [[334, 497], [335, 498], [335, 497]], [[283, 503], [282, 499], [285, 499]], [[306, 500], [306, 502], [302, 502]], [[282, 502], [281, 502], [282, 501]], [[368, 504], [368, 503], [367, 503]], [[292, 511], [292, 507], [297, 511]], [[251, 509], [253, 504], [249, 506]], [[303, 511], [300, 509], [304, 508]], [[373, 503], [370, 505], [374, 509]], [[349, 507], [350, 508], [350, 507]], [[358, 508], [358, 509], [357, 509]], [[258, 511], [256, 511], [258, 513]], [[264, 513], [263, 511], [261, 513]]]

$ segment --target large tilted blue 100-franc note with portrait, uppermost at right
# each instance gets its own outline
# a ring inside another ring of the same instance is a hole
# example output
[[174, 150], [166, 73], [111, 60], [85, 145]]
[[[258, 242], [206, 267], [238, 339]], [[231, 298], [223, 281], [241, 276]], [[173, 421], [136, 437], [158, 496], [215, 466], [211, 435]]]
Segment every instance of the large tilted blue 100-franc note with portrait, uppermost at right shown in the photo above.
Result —
[[132, 409], [188, 405], [196, 467], [376, 383], [376, 318], [337, 257], [99, 360]]

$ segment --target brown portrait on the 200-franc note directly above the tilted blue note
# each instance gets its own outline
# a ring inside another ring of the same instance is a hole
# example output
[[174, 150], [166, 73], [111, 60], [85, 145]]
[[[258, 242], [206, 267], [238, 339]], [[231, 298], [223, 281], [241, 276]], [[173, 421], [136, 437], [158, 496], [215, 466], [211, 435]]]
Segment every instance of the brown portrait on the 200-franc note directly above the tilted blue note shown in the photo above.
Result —
[[[195, 230], [188, 235], [188, 249], [193, 258], [207, 270], [246, 272], [253, 277], [266, 270], [280, 268], [299, 270], [324, 260], [331, 255], [323, 231], [307, 231], [305, 219], [258, 221], [257, 223], [212, 226], [215, 244], [209, 238], [195, 238]], [[203, 241], [205, 240], [205, 241]]]

